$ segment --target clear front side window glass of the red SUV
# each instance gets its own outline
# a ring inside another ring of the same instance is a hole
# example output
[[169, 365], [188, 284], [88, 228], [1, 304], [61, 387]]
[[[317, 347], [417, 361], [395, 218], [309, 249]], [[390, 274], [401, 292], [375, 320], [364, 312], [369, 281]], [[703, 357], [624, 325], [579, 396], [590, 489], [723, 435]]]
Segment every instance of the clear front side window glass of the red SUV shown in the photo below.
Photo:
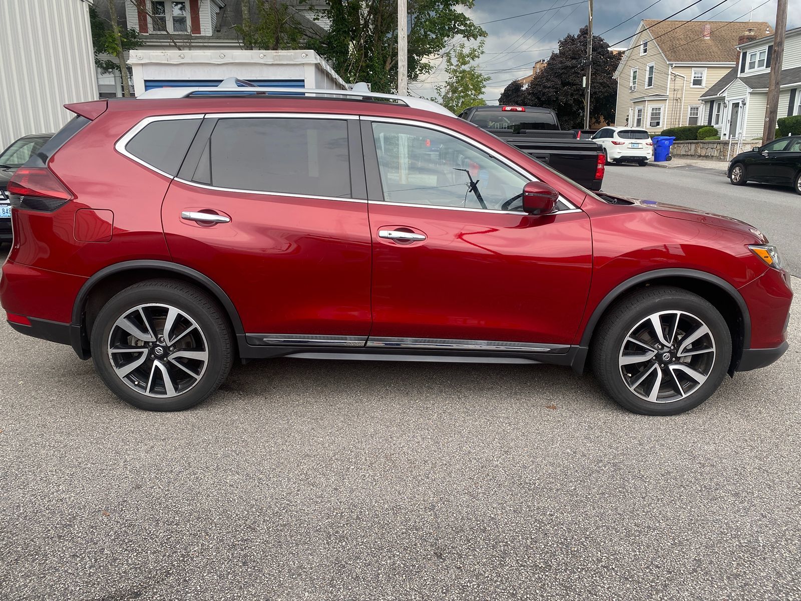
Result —
[[435, 207], [519, 208], [531, 178], [453, 135], [373, 123], [384, 200]]

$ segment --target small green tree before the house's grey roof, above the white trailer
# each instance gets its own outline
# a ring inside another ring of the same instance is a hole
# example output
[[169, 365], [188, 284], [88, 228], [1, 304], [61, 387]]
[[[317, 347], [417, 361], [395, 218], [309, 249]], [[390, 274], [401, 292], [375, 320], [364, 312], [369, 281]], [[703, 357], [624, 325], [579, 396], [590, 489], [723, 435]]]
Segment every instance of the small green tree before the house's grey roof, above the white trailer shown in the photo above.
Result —
[[[297, 50], [303, 45], [306, 32], [286, 2], [256, 0], [256, 18], [250, 18], [250, 2], [242, 5], [242, 25], [234, 29], [242, 36], [246, 48], [260, 50]], [[245, 11], [248, 14], [245, 14]]]

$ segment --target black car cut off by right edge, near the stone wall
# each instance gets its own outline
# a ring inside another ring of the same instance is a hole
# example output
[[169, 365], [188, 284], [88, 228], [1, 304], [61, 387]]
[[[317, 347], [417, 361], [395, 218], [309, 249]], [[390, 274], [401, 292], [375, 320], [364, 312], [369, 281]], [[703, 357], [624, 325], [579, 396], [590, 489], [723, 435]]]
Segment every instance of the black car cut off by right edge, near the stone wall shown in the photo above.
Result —
[[731, 159], [728, 175], [735, 186], [782, 184], [801, 194], [801, 135], [788, 135], [741, 152]]

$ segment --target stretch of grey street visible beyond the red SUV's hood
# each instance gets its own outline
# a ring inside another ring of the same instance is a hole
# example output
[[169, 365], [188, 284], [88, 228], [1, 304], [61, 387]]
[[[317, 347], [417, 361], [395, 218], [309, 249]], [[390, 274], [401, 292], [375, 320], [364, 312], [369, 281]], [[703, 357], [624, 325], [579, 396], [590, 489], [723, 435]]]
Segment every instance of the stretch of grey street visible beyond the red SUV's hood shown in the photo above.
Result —
[[603, 189], [727, 215], [759, 228], [779, 247], [788, 271], [801, 276], [801, 195], [792, 188], [733, 186], [724, 171], [705, 167], [607, 165]]

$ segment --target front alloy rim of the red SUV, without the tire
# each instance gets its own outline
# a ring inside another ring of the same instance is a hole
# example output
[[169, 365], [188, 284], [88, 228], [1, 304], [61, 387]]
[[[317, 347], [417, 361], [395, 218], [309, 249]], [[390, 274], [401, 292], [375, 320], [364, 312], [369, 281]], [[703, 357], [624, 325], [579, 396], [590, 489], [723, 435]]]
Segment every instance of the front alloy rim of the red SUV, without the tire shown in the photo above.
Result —
[[714, 337], [703, 321], [684, 311], [662, 311], [630, 330], [618, 365], [632, 393], [646, 401], [670, 403], [701, 387], [714, 357]]

